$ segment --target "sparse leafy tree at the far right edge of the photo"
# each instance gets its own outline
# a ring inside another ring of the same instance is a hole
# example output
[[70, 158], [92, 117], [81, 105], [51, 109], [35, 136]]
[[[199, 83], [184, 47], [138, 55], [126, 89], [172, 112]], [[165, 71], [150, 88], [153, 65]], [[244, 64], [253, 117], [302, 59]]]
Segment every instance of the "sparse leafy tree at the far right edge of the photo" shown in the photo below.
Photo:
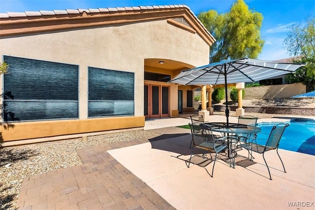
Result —
[[287, 74], [285, 80], [304, 84], [306, 92], [315, 90], [315, 18], [309, 16], [306, 24], [290, 26], [284, 44], [290, 56], [294, 56], [293, 62], [306, 63], [294, 73]]

